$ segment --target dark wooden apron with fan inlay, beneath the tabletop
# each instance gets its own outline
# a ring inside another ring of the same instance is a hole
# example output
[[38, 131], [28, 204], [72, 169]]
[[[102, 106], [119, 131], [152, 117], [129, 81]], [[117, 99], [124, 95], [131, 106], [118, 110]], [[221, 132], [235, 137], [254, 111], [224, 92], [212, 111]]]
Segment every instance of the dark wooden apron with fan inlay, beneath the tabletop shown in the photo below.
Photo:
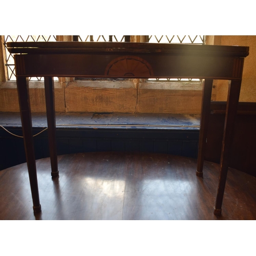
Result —
[[16, 54], [17, 76], [242, 79], [244, 58], [122, 54]]

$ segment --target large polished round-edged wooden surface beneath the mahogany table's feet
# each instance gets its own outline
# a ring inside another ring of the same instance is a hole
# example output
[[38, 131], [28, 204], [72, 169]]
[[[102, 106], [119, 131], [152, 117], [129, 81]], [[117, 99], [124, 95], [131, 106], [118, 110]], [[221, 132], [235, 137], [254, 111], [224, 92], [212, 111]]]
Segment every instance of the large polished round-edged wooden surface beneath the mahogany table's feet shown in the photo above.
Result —
[[0, 172], [1, 220], [255, 220], [256, 178], [229, 169], [222, 215], [213, 214], [219, 165], [154, 153], [95, 152], [36, 161], [42, 211], [33, 214], [27, 165]]

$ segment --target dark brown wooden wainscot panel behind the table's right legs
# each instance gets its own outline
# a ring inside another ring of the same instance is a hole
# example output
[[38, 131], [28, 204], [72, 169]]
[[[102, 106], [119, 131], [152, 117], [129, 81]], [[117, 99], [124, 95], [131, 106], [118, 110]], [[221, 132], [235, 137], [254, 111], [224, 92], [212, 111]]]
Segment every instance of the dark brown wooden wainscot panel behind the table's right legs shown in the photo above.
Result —
[[[220, 162], [226, 102], [211, 102], [205, 160]], [[256, 177], [256, 103], [240, 102], [234, 123], [230, 167]]]

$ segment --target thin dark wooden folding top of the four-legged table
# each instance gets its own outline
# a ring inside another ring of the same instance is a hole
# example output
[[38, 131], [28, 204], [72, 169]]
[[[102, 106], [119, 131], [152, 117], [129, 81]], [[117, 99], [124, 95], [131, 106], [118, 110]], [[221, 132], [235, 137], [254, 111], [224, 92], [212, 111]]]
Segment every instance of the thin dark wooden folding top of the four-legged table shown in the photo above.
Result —
[[71, 52], [74, 53], [115, 53], [143, 52], [173, 54], [225, 55], [246, 57], [249, 47], [246, 46], [214, 46], [197, 44], [158, 44], [148, 42], [7, 42], [10, 53]]

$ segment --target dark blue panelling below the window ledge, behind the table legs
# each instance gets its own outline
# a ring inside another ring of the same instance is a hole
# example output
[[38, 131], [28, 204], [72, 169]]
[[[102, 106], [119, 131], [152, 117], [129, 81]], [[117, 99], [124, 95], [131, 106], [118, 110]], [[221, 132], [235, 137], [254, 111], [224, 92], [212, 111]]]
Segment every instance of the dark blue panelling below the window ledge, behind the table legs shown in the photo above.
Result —
[[[14, 134], [22, 135], [21, 128], [8, 127]], [[42, 131], [34, 128], [33, 134]], [[48, 133], [34, 137], [36, 159], [49, 157]], [[195, 130], [121, 130], [121, 129], [60, 129], [56, 130], [57, 154], [82, 152], [126, 151], [168, 153], [188, 157], [197, 157], [199, 131]], [[0, 154], [1, 169], [26, 162], [24, 142], [4, 130], [0, 130], [2, 148]]]

